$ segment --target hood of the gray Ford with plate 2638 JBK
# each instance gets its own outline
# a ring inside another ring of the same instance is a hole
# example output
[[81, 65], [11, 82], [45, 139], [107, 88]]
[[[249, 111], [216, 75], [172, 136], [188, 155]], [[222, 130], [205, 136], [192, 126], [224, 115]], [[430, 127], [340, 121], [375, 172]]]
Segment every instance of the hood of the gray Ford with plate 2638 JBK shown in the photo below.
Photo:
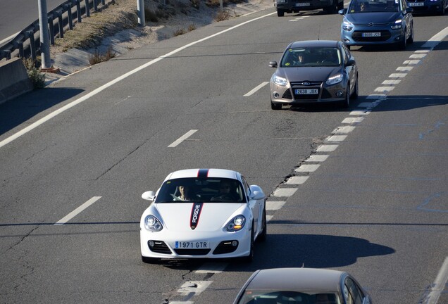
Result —
[[340, 70], [340, 66], [279, 68], [277, 75], [286, 78], [289, 82], [324, 82], [328, 77], [335, 75]]

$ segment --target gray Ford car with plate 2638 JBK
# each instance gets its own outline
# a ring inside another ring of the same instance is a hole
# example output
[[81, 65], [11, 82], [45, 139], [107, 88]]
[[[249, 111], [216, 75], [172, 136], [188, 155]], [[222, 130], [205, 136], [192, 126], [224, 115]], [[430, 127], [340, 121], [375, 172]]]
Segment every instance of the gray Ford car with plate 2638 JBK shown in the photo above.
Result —
[[358, 96], [358, 67], [347, 46], [330, 40], [293, 42], [270, 78], [270, 106], [337, 102], [344, 108]]

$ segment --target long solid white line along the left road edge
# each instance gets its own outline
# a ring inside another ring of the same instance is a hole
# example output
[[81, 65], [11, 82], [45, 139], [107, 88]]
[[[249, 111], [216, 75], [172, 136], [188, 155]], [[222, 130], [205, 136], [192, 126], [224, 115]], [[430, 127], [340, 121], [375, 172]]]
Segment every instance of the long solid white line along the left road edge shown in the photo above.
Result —
[[185, 44], [185, 46], [181, 46], [178, 49], [175, 49], [174, 51], [170, 51], [169, 53], [166, 53], [163, 56], [160, 56], [156, 59], [153, 59], [147, 63], [145, 63], [144, 65], [140, 65], [138, 68], [135, 68], [134, 70], [131, 70], [130, 72], [127, 72], [123, 75], [121, 75], [120, 77], [112, 80], [111, 82], [108, 82], [106, 84], [103, 84], [101, 87], [99, 87], [98, 89], [94, 89], [94, 91], [91, 91], [89, 94], [86, 94], [85, 96], [82, 96], [80, 99], [76, 99], [75, 101], [72, 101], [71, 103], [68, 103], [66, 106], [63, 106], [62, 108], [59, 108], [58, 110], [55, 110], [53, 113], [50, 113], [49, 115], [46, 115], [44, 118], [41, 118], [40, 120], [37, 120], [37, 122], [32, 123], [31, 125], [29, 125], [28, 127], [25, 127], [25, 129], [20, 130], [19, 132], [11, 135], [11, 137], [8, 137], [7, 139], [4, 139], [3, 141], [0, 141], [0, 148], [2, 146], [5, 146], [6, 144], [9, 144], [11, 141], [18, 139], [18, 137], [21, 137], [23, 134], [26, 134], [27, 132], [30, 132], [32, 129], [35, 129], [36, 127], [39, 127], [39, 125], [42, 125], [44, 122], [51, 120], [51, 118], [54, 118], [56, 115], [59, 115], [63, 112], [65, 112], [66, 110], [68, 110], [69, 108], [72, 108], [73, 106], [76, 106], [79, 103], [82, 103], [82, 101], [86, 101], [87, 99], [89, 99], [92, 96], [97, 95], [98, 93], [100, 93], [101, 91], [104, 91], [105, 89], [107, 89], [108, 87], [111, 87], [113, 84], [116, 84], [117, 82], [120, 82], [121, 80], [124, 80], [125, 78], [134, 75], [136, 72], [139, 72], [140, 70], [143, 70], [144, 68], [149, 67], [149, 65], [153, 65], [154, 63], [157, 63], [158, 61], [161, 61], [167, 57], [173, 56], [175, 53], [179, 53], [180, 51], [183, 51], [187, 48], [189, 48], [190, 46], [194, 46], [195, 44], [199, 44], [200, 42], [204, 42], [206, 40], [209, 40], [213, 37], [216, 37], [220, 34], [224, 34], [225, 32], [229, 32], [231, 30], [235, 30], [237, 27], [241, 27], [243, 25], [247, 25], [247, 23], [251, 23], [254, 22], [256, 20], [262, 19], [262, 18], [266, 18], [270, 15], [275, 14], [274, 13], [268, 13], [266, 15], [262, 15], [260, 17], [251, 19], [251, 20], [247, 20], [244, 23], [239, 23], [237, 25], [234, 25], [232, 27], [229, 27], [228, 29], [222, 30], [220, 32], [217, 32], [216, 34], [211, 34], [210, 36], [204, 37], [202, 39], [199, 39], [195, 42], [189, 43], [189, 44]]

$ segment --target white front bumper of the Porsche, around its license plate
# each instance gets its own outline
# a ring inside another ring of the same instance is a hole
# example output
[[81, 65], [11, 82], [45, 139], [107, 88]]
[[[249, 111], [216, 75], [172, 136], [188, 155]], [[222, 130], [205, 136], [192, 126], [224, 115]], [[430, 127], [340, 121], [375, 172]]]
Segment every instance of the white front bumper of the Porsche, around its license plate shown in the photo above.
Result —
[[[154, 241], [150, 248], [149, 241]], [[175, 248], [176, 241], [208, 241], [209, 248]], [[232, 245], [237, 242], [237, 246]], [[140, 248], [147, 258], [237, 258], [250, 253], [251, 232], [149, 232], [140, 229]]]

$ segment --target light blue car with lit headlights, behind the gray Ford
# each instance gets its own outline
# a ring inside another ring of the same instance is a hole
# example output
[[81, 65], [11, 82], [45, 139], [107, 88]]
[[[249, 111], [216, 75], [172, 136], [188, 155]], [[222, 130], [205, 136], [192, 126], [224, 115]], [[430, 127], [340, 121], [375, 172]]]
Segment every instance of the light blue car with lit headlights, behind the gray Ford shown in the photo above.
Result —
[[341, 40], [349, 48], [396, 44], [406, 49], [413, 42], [412, 11], [406, 0], [351, 0], [339, 11], [344, 16]]

